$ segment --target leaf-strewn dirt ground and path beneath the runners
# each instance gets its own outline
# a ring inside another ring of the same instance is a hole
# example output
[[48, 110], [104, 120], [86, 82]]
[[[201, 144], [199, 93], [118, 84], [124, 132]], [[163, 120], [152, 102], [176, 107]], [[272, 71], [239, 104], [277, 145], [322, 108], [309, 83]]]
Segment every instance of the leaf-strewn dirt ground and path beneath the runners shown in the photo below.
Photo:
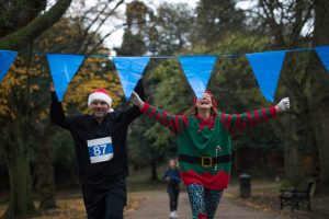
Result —
[[[268, 185], [269, 187], [269, 185]], [[37, 201], [35, 206], [37, 206]], [[61, 193], [57, 196], [58, 208], [42, 212], [33, 219], [86, 219], [86, 210], [80, 192]], [[0, 217], [8, 207], [8, 201], [0, 198]], [[238, 187], [231, 186], [224, 193], [216, 218], [297, 218], [327, 219], [329, 218], [329, 197], [311, 197], [313, 211], [279, 209], [279, 197], [271, 193], [253, 191], [251, 198], [242, 199], [238, 196]], [[169, 204], [164, 189], [128, 193], [128, 204], [125, 208], [126, 219], [168, 218]], [[191, 218], [191, 208], [186, 193], [182, 192], [179, 199], [179, 218]]]

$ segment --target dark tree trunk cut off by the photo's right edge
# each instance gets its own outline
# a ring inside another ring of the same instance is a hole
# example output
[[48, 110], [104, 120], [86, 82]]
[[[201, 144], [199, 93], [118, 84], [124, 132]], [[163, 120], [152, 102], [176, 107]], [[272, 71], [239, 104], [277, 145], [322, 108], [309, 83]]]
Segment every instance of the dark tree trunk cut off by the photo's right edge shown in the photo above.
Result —
[[[329, 44], [329, 5], [327, 1], [315, 0], [315, 31], [314, 46]], [[316, 57], [316, 56], [314, 56]], [[311, 72], [311, 95], [314, 126], [318, 147], [320, 164], [320, 188], [322, 192], [329, 192], [329, 76], [322, 64], [313, 59], [310, 61]]]

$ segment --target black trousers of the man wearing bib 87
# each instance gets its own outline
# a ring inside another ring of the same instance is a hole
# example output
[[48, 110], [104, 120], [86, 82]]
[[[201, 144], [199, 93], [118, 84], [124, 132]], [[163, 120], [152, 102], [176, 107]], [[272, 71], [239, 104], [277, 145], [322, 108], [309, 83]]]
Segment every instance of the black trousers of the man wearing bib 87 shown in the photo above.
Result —
[[127, 203], [125, 176], [116, 176], [102, 185], [81, 187], [88, 219], [123, 219]]

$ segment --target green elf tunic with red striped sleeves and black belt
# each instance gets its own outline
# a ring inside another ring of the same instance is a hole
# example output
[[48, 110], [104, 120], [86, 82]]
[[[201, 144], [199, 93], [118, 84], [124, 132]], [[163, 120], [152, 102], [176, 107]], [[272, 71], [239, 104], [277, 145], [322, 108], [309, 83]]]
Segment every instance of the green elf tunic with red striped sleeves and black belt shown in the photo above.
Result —
[[140, 110], [178, 135], [180, 173], [186, 186], [196, 183], [209, 189], [227, 187], [230, 174], [230, 134], [275, 117], [274, 106], [243, 114], [211, 116], [170, 115], [145, 103]]

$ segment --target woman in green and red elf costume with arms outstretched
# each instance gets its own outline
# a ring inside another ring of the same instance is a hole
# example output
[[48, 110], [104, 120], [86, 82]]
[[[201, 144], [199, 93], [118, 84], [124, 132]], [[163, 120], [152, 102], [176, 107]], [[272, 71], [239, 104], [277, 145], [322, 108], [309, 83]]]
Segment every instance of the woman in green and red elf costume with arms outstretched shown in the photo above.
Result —
[[193, 219], [213, 219], [215, 216], [229, 182], [230, 134], [253, 127], [290, 108], [286, 97], [272, 107], [224, 114], [217, 112], [217, 103], [208, 91], [200, 100], [194, 97], [190, 115], [170, 115], [145, 103], [135, 92], [131, 101], [177, 134], [180, 173], [188, 188]]

